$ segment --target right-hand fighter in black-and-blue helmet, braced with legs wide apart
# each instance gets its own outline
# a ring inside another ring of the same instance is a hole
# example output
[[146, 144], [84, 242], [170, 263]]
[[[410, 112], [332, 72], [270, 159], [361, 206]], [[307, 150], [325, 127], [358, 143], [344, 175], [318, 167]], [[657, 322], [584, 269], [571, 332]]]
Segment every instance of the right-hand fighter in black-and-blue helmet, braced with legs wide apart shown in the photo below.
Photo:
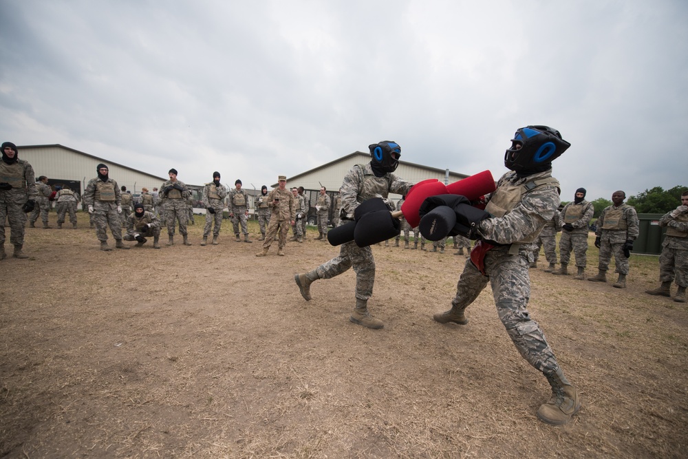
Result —
[[486, 199], [493, 215], [473, 226], [478, 239], [456, 286], [451, 310], [435, 314], [440, 323], [468, 323], [464, 310], [488, 282], [497, 314], [519, 353], [542, 372], [552, 387], [552, 398], [537, 416], [545, 423], [564, 424], [578, 411], [577, 390], [566, 380], [543, 332], [528, 312], [533, 241], [559, 206], [559, 182], [552, 178], [552, 160], [570, 144], [555, 129], [528, 126], [519, 129], [506, 151], [504, 164], [511, 171], [497, 182]]

